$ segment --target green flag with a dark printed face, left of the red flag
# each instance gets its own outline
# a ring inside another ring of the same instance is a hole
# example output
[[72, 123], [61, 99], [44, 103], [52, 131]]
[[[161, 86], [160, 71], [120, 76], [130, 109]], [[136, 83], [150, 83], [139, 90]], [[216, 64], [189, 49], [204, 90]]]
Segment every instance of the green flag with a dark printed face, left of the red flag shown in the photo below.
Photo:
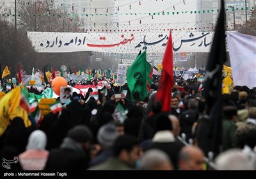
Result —
[[134, 102], [135, 91], [140, 93], [140, 99], [147, 97], [147, 81], [151, 71], [151, 65], [147, 62], [146, 51], [142, 52], [127, 69], [127, 84], [131, 91], [131, 101]]

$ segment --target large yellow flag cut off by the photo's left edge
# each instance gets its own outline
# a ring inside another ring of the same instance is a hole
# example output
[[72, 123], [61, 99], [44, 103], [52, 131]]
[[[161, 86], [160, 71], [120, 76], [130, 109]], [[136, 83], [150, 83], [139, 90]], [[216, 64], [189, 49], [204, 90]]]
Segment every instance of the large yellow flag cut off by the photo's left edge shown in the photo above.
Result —
[[4, 97], [0, 99], [0, 104], [1, 136], [8, 126], [10, 114], [12, 114], [20, 104], [20, 88], [14, 88], [12, 91], [4, 95]]

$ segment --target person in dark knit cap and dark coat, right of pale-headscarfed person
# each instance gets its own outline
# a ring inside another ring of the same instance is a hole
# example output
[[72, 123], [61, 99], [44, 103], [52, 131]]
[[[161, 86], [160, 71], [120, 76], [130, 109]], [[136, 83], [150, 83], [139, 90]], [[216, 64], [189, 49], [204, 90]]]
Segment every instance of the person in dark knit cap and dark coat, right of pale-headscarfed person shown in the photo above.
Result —
[[92, 131], [84, 125], [68, 130], [60, 148], [50, 151], [45, 170], [70, 171], [86, 169], [90, 161], [89, 146]]

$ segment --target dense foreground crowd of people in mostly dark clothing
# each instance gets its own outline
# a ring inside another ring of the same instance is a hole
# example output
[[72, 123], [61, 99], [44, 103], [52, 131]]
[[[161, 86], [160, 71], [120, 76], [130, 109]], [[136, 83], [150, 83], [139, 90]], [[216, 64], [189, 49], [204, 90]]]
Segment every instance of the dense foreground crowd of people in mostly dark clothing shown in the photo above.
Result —
[[[143, 99], [127, 84], [120, 88], [110, 82], [106, 90], [99, 89], [97, 100], [91, 89], [86, 95], [73, 92], [69, 104], [37, 125], [26, 128], [22, 118], [13, 118], [0, 137], [1, 159], [18, 157], [10, 166], [19, 170], [256, 169], [256, 88], [235, 86], [223, 94], [222, 148], [209, 167], [205, 157], [212, 150], [212, 130], [202, 82], [175, 77], [172, 110], [163, 113], [161, 102], [154, 100], [159, 79], [152, 81]], [[113, 118], [118, 104], [127, 111], [124, 123]]]

